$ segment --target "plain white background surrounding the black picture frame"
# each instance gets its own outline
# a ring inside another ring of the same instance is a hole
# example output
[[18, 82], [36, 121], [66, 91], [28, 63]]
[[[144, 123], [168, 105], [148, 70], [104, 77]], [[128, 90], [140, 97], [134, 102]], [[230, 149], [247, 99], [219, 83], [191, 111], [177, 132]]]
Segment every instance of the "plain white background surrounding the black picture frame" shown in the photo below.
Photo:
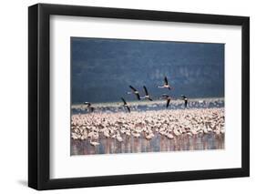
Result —
[[[41, 3], [112, 6], [137, 9], [155, 9], [177, 12], [251, 16], [251, 99], [256, 98], [256, 12], [253, 0], [41, 0]], [[0, 138], [0, 191], [1, 193], [35, 193], [26, 187], [27, 179], [27, 6], [34, 0], [1, 2], [0, 20], [0, 85], [1, 85], [1, 138]], [[66, 189], [47, 193], [232, 193], [255, 190], [256, 141], [254, 137], [255, 102], [251, 100], [251, 178], [215, 179], [158, 183], [93, 189]], [[254, 119], [253, 119], [254, 118]]]

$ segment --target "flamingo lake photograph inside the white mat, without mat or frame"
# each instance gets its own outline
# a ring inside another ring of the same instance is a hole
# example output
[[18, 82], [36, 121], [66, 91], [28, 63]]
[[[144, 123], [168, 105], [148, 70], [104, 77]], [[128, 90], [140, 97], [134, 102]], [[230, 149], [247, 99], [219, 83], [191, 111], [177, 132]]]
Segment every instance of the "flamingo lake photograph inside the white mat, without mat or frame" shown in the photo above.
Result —
[[224, 48], [71, 37], [71, 156], [225, 148]]

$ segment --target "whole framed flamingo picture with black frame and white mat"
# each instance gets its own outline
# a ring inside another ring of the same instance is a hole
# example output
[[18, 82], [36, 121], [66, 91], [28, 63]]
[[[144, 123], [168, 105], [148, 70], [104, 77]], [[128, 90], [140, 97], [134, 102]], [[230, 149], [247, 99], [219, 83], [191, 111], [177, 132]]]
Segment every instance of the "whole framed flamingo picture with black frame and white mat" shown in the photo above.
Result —
[[28, 185], [250, 174], [250, 19], [28, 8]]

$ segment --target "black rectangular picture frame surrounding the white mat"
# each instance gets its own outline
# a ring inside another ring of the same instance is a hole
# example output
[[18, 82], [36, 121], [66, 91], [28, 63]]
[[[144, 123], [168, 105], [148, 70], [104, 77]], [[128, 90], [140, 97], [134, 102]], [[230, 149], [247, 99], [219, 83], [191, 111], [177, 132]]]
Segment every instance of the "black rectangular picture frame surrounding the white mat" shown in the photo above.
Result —
[[[241, 168], [50, 179], [50, 15], [241, 26]], [[39, 190], [68, 189], [250, 176], [250, 18], [247, 16], [204, 15], [78, 5], [32, 5], [28, 7], [28, 88], [28, 186], [31, 188]]]

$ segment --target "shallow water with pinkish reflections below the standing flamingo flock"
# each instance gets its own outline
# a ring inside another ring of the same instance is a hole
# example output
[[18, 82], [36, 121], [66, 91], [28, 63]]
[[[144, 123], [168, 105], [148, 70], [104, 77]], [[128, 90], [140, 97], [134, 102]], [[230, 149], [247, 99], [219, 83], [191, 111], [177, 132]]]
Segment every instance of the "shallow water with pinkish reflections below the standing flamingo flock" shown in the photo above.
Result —
[[216, 135], [198, 134], [190, 137], [181, 135], [169, 139], [159, 134], [151, 140], [146, 138], [122, 137], [123, 142], [118, 142], [115, 138], [99, 138], [100, 145], [93, 147], [88, 140], [71, 139], [71, 155], [91, 155], [91, 154], [114, 154], [114, 153], [140, 153], [159, 151], [182, 151], [182, 150], [203, 150], [203, 149], [223, 149], [224, 134]]

